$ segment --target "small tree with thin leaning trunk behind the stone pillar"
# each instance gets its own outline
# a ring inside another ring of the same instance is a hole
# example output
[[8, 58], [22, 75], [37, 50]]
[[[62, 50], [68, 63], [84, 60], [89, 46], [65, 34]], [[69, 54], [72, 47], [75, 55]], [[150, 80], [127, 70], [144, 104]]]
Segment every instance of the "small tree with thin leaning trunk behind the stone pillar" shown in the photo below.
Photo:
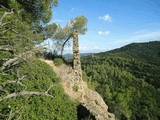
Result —
[[65, 45], [67, 43], [69, 44], [69, 40], [73, 38], [74, 31], [76, 30], [79, 34], [84, 35], [87, 31], [86, 25], [87, 18], [85, 16], [79, 16], [71, 19], [64, 28], [59, 26], [54, 39], [57, 40], [57, 44], [61, 45], [61, 56], [63, 55]]

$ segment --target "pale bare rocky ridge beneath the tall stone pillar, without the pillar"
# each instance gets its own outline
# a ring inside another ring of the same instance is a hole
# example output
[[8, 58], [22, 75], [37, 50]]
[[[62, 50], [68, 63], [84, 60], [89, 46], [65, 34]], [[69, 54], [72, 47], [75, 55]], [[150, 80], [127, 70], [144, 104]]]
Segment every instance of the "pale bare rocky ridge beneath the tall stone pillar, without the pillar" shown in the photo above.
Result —
[[76, 81], [74, 69], [66, 65], [56, 67], [53, 61], [44, 60], [61, 78], [61, 84], [73, 100], [77, 100], [86, 107], [97, 120], [115, 120], [115, 116], [108, 112], [108, 106], [105, 104], [102, 97], [95, 91], [88, 88], [87, 83], [83, 80]]

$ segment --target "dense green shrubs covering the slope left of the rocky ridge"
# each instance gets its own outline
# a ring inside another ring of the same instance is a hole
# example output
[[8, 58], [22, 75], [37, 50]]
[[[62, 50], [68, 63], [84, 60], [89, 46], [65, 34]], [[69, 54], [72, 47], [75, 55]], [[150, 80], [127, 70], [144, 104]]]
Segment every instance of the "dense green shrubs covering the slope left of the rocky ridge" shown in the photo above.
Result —
[[[16, 81], [14, 74], [0, 75], [0, 98], [16, 93], [12, 97], [0, 101], [0, 120], [76, 120], [77, 105], [64, 93], [59, 79], [46, 63], [36, 60], [16, 67], [20, 75], [26, 78]], [[4, 84], [7, 83], [7, 84]], [[50, 86], [53, 87], [50, 88]], [[50, 88], [50, 89], [49, 89]], [[43, 96], [47, 91], [53, 96]], [[22, 95], [20, 93], [41, 92], [42, 95]], [[1, 100], [1, 99], [0, 99]]]

